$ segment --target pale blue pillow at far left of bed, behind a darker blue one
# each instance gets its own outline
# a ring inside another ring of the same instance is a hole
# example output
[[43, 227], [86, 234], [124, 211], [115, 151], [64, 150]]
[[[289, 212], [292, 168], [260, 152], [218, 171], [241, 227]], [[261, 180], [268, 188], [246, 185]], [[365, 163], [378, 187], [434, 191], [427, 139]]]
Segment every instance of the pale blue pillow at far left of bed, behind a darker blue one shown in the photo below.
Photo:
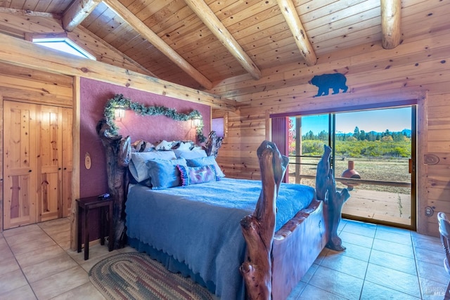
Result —
[[131, 152], [129, 171], [137, 182], [150, 178], [146, 161], [150, 159], [176, 159], [173, 151]]

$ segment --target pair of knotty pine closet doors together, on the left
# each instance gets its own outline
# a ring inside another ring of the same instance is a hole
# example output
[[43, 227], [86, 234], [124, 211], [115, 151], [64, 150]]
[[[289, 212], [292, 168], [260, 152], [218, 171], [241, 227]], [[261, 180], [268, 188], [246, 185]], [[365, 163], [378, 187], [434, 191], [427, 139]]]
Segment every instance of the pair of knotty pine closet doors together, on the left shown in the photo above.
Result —
[[4, 101], [4, 229], [71, 213], [72, 109]]

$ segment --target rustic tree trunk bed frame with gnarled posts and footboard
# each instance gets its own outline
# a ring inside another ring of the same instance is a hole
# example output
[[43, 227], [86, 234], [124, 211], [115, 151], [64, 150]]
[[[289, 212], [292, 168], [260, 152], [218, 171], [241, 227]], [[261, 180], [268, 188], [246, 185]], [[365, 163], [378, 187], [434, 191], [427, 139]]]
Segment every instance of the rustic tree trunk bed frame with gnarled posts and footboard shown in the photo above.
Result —
[[[113, 198], [113, 249], [127, 243], [124, 204], [127, 198], [128, 164], [131, 139], [110, 134], [104, 120], [96, 127], [106, 155], [108, 188]], [[221, 138], [214, 131], [208, 136], [205, 150], [217, 157]], [[248, 299], [285, 299], [297, 285], [323, 247], [342, 251], [337, 235], [340, 209], [348, 199], [347, 189], [336, 192], [330, 169], [328, 146], [317, 168], [316, 199], [275, 232], [276, 198], [288, 157], [280, 154], [274, 143], [264, 141], [257, 150], [261, 169], [262, 191], [253, 214], [240, 221], [247, 243], [246, 259], [240, 266]], [[330, 195], [330, 197], [328, 197]]]

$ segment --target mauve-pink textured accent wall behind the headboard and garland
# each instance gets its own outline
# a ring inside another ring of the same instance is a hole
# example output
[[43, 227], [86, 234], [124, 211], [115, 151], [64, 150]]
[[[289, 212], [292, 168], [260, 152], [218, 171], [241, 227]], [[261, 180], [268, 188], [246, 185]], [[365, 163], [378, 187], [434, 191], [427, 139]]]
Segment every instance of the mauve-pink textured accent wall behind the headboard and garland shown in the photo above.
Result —
[[[129, 89], [114, 84], [82, 78], [80, 81], [80, 197], [89, 197], [108, 193], [106, 178], [105, 153], [100, 138], [96, 133], [96, 124], [103, 118], [105, 103], [116, 93], [122, 93], [131, 101], [146, 105], [171, 107], [177, 112], [189, 113], [198, 110], [205, 126], [203, 134], [210, 132], [210, 106], [191, 103], [184, 100], [160, 96], [154, 93]], [[117, 122], [122, 136], [131, 136], [131, 142], [143, 139], [150, 142], [174, 140], [195, 141], [195, 128], [191, 121], [179, 122], [164, 116], [136, 116], [127, 110], [121, 122]], [[84, 167], [84, 155], [91, 155], [91, 169]]]

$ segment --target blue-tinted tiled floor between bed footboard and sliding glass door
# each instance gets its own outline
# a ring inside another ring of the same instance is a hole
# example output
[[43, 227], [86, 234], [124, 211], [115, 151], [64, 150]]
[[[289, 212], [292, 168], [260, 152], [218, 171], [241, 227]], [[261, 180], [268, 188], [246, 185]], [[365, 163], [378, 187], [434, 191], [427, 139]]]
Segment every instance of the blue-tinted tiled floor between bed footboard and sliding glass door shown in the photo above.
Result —
[[342, 220], [345, 252], [324, 249], [290, 299], [444, 299], [439, 238]]

